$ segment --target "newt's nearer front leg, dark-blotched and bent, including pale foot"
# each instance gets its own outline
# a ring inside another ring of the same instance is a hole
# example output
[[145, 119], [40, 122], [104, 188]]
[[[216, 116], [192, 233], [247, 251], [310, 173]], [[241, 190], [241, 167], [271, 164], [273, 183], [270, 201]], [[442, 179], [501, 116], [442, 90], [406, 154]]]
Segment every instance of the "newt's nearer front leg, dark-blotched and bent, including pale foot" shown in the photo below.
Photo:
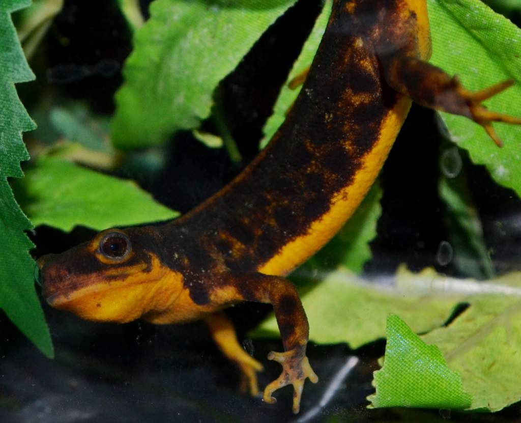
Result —
[[275, 403], [272, 396], [277, 389], [293, 385], [293, 413], [298, 413], [304, 381], [309, 378], [313, 383], [318, 377], [309, 365], [306, 357], [306, 345], [309, 336], [309, 325], [299, 294], [295, 286], [288, 280], [263, 275], [262, 273], [243, 273], [233, 275], [235, 300], [255, 301], [273, 305], [284, 352], [270, 352], [269, 360], [282, 365], [280, 376], [268, 384], [263, 399], [267, 403]]

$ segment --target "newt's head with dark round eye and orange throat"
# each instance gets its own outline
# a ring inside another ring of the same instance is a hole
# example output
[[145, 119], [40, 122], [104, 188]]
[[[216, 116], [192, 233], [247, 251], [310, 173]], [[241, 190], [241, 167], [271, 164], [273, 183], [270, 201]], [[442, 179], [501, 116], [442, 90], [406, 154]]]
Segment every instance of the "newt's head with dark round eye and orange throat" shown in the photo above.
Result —
[[182, 285], [172, 284], [175, 273], [154, 253], [156, 240], [152, 227], [108, 229], [64, 253], [40, 257], [43, 296], [51, 306], [83, 319], [134, 320], [154, 308], [154, 294], [164, 289], [167, 278], [169, 291]]

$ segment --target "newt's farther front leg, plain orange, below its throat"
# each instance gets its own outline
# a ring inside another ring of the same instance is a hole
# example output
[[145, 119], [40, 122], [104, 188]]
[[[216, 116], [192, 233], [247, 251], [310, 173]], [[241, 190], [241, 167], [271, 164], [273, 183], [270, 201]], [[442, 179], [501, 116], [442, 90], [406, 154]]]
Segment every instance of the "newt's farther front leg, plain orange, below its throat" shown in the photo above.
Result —
[[241, 390], [249, 391], [250, 395], [256, 396], [259, 392], [257, 371], [263, 370], [262, 364], [242, 349], [237, 341], [235, 329], [224, 312], [209, 315], [205, 322], [219, 349], [241, 370]]

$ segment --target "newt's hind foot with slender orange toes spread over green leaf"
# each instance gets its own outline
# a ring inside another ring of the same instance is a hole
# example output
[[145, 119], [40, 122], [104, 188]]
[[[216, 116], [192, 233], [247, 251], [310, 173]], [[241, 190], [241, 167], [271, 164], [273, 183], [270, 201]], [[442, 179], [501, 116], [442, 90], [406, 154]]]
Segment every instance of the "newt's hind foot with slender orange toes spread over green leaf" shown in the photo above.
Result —
[[[485, 101], [486, 99], [493, 97], [494, 95], [499, 94], [500, 92], [511, 87], [514, 84], [514, 81], [503, 81], [499, 84], [492, 85], [480, 91], [467, 90], [461, 85], [460, 81], [456, 77], [452, 79], [452, 83], [456, 87], [455, 91], [457, 92], [457, 95], [460, 96], [462, 101], [467, 106], [465, 113], [462, 113], [461, 111], [454, 111], [454, 113], [467, 116], [469, 119], [474, 120], [476, 123], [478, 123], [478, 125], [481, 125], [483, 128], [485, 128], [490, 138], [492, 138], [498, 147], [501, 147], [503, 142], [492, 127], [492, 122], [504, 122], [513, 123], [514, 125], [521, 125], [521, 118], [490, 111], [481, 104], [481, 102]], [[457, 102], [455, 102], [455, 104], [457, 104]]]

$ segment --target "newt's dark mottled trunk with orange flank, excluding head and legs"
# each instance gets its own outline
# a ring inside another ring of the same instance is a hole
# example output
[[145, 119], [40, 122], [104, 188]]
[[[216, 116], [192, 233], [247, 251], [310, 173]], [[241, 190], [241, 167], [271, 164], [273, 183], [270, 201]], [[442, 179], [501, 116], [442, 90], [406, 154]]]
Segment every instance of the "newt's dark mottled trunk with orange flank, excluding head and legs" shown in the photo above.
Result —
[[[171, 239], [186, 231], [231, 270], [285, 275], [340, 229], [376, 178], [410, 105], [384, 81], [378, 57], [417, 49], [416, 29], [428, 21], [406, 3], [335, 2], [286, 121], [238, 178], [165, 226]], [[425, 2], [414, 4], [425, 13]]]

